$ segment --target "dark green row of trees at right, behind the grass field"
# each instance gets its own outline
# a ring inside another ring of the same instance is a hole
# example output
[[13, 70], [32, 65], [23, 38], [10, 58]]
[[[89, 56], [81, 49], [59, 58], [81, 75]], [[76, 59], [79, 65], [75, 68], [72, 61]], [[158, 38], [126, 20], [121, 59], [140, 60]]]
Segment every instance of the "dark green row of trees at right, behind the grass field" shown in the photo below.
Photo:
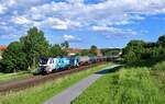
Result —
[[122, 58], [127, 62], [165, 58], [165, 35], [160, 36], [155, 43], [131, 41], [122, 50]]

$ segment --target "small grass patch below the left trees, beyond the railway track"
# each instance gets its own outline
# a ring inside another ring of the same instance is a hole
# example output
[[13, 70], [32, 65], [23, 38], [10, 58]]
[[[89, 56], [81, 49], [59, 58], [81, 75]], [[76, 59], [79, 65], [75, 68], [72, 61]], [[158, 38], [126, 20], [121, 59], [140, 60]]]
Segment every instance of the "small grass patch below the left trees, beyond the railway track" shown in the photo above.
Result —
[[0, 73], [0, 83], [12, 81], [12, 80], [19, 80], [31, 76], [33, 74], [26, 71], [14, 72], [14, 73]]

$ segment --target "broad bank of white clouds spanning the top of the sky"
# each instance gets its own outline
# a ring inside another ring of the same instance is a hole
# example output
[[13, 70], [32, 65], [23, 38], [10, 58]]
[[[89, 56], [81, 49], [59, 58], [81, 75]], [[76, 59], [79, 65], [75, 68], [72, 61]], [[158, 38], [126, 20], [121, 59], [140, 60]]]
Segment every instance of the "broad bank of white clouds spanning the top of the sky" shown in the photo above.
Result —
[[66, 1], [0, 0], [0, 21], [13, 27], [35, 25], [46, 30], [92, 28], [135, 34], [113, 27], [145, 20], [146, 15], [165, 14], [165, 0], [102, 0], [97, 4], [86, 4], [84, 0]]

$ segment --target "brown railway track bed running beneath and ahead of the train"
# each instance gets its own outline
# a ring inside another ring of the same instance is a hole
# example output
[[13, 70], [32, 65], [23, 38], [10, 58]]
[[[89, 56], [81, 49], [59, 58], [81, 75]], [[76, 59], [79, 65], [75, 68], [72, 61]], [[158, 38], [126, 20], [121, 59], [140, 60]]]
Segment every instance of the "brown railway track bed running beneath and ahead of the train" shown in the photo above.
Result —
[[72, 74], [72, 73], [76, 73], [79, 72], [81, 70], [87, 70], [89, 68], [102, 65], [103, 62], [99, 62], [99, 63], [94, 63], [94, 65], [88, 65], [88, 66], [82, 66], [79, 68], [74, 68], [70, 70], [65, 70], [65, 71], [61, 71], [61, 72], [56, 72], [56, 73], [51, 73], [47, 76], [33, 76], [31, 78], [28, 79], [23, 79], [23, 80], [19, 80], [19, 81], [13, 81], [10, 83], [2, 83], [0, 84], [0, 93], [8, 93], [10, 91], [20, 91], [26, 88], [31, 88], [47, 81], [52, 81], [58, 78], [62, 78], [64, 76], [67, 74]]

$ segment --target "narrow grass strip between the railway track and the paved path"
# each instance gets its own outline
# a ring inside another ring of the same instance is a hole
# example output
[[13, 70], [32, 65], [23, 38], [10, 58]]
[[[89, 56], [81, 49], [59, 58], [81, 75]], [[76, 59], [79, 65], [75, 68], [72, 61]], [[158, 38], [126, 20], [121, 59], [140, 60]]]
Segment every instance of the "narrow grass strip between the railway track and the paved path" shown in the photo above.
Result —
[[66, 76], [53, 82], [47, 82], [34, 88], [30, 88], [20, 92], [11, 92], [0, 96], [0, 104], [42, 104], [48, 97], [62, 92], [72, 84], [80, 81], [89, 74], [99, 71], [112, 63], [101, 65], [89, 70], [85, 70], [72, 76]]

